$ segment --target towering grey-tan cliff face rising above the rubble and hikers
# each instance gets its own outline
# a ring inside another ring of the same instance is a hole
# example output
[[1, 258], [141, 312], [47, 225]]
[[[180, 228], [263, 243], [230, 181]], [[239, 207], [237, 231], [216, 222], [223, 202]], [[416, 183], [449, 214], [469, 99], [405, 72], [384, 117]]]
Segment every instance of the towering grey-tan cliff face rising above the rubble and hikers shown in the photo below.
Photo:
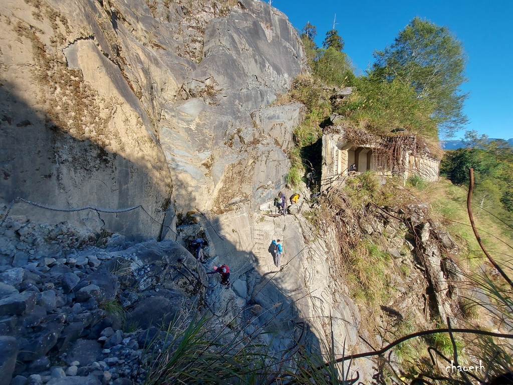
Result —
[[7, 1], [0, 13], [10, 215], [164, 238], [174, 207], [262, 202], [283, 185], [302, 106], [270, 104], [304, 53], [282, 13], [253, 0]]

